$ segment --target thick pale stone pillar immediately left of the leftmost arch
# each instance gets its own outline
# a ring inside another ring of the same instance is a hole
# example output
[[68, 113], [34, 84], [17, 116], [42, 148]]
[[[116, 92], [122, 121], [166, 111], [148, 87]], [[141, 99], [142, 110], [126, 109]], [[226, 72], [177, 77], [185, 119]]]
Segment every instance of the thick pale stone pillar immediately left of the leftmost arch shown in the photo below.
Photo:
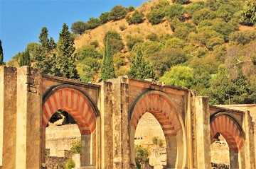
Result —
[[17, 72], [16, 168], [41, 168], [42, 76], [29, 66]]

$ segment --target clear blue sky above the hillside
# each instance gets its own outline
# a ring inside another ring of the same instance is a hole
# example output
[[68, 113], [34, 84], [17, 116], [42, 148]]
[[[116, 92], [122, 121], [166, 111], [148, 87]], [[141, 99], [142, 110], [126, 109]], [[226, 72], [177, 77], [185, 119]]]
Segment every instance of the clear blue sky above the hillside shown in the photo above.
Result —
[[0, 40], [4, 62], [23, 52], [28, 43], [38, 42], [44, 26], [48, 29], [48, 37], [58, 42], [63, 23], [71, 28], [74, 22], [99, 18], [101, 13], [116, 5], [136, 8], [142, 3], [143, 0], [0, 0]]

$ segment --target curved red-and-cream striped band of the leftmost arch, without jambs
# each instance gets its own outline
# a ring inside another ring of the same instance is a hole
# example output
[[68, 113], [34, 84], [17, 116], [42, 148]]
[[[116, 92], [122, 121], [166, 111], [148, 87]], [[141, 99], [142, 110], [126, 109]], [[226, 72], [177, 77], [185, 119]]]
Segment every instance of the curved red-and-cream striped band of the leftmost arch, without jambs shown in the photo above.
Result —
[[91, 134], [96, 128], [99, 110], [92, 99], [77, 86], [60, 85], [50, 89], [43, 97], [43, 127], [57, 110], [65, 110], [77, 122], [81, 134]]

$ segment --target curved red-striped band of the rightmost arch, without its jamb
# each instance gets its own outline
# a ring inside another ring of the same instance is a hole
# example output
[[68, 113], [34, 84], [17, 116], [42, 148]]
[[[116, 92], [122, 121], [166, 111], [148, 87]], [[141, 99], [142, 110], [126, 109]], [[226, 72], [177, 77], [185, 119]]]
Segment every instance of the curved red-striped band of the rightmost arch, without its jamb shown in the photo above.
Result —
[[210, 139], [219, 132], [225, 138], [230, 151], [240, 151], [245, 141], [245, 134], [235, 117], [227, 112], [216, 112], [210, 116]]

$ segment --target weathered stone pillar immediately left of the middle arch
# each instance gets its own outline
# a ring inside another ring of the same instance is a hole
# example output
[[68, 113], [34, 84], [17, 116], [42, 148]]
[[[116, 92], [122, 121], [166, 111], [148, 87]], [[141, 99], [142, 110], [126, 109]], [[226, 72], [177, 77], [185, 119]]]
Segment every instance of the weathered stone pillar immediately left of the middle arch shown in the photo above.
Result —
[[113, 84], [113, 168], [130, 168], [129, 166], [129, 110], [128, 85], [122, 78], [111, 79]]

